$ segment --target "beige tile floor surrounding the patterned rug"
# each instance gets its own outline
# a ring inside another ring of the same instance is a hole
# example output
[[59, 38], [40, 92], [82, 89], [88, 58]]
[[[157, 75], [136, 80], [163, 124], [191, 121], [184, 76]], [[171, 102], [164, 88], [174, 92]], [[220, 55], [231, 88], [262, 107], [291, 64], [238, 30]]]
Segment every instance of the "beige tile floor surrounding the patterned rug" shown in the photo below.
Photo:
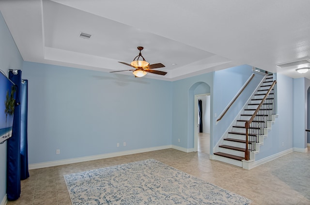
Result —
[[30, 170], [31, 176], [21, 182], [21, 197], [8, 205], [71, 205], [63, 175], [150, 158], [245, 196], [253, 200], [251, 205], [310, 205], [310, 151], [245, 170], [209, 160], [202, 152], [172, 148]]

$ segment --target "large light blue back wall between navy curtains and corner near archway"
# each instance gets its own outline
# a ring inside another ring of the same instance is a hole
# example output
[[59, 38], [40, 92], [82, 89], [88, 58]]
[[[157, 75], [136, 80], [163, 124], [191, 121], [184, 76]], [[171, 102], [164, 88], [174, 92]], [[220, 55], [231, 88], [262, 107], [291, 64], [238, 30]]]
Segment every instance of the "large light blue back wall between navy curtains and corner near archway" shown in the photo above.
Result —
[[23, 78], [30, 164], [171, 145], [169, 81], [26, 61]]

